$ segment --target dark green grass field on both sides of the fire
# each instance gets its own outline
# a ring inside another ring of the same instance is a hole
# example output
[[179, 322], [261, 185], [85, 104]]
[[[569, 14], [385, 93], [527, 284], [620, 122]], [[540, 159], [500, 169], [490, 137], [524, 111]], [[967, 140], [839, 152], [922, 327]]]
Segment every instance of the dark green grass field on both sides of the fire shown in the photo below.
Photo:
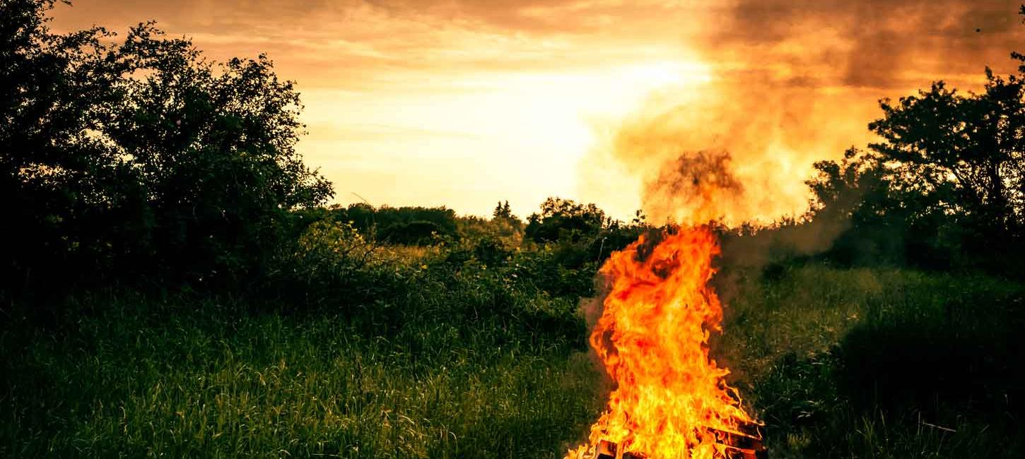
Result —
[[[1020, 285], [819, 265], [719, 283], [713, 352], [771, 457], [1025, 456]], [[80, 298], [46, 327], [15, 315], [0, 331], [0, 455], [561, 456], [604, 402], [579, 340], [532, 331], [516, 307], [466, 320], [452, 304], [501, 297], [447, 290], [367, 305], [404, 311], [386, 328], [131, 294]]]

